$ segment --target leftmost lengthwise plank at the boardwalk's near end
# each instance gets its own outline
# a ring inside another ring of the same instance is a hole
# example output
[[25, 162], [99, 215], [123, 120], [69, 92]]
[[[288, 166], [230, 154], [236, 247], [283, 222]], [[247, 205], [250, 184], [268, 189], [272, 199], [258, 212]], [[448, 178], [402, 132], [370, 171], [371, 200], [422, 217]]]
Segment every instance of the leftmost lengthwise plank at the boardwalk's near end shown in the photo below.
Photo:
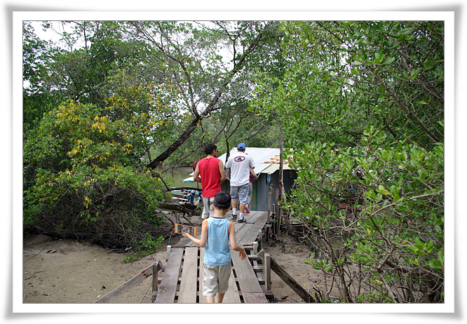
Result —
[[173, 303], [182, 266], [183, 248], [172, 248], [164, 276], [157, 292], [156, 303]]

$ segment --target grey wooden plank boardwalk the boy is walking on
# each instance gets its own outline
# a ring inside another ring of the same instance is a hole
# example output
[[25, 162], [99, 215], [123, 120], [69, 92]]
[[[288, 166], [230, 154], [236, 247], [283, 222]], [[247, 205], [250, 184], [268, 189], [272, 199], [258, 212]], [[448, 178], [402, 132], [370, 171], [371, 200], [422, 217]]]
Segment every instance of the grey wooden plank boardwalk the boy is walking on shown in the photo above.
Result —
[[[226, 214], [231, 220], [231, 212]], [[267, 303], [273, 298], [269, 278], [264, 266], [258, 264], [257, 249], [260, 247], [267, 212], [250, 212], [247, 222], [233, 221], [236, 239], [247, 250], [247, 259], [240, 259], [238, 252], [231, 250], [232, 270], [229, 290], [223, 303]], [[153, 292], [155, 303], [205, 303], [203, 296], [204, 248], [198, 248], [188, 238], [170, 248], [170, 254], [160, 279], [157, 291]]]

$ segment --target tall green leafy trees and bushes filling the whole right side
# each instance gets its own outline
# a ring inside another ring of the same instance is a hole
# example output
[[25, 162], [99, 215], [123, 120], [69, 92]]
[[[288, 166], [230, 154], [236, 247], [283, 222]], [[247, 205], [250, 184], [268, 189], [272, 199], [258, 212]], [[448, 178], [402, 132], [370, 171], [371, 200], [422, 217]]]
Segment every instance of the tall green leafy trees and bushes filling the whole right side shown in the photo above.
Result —
[[442, 302], [442, 22], [284, 22], [283, 76], [252, 111], [283, 123], [302, 220], [344, 302]]

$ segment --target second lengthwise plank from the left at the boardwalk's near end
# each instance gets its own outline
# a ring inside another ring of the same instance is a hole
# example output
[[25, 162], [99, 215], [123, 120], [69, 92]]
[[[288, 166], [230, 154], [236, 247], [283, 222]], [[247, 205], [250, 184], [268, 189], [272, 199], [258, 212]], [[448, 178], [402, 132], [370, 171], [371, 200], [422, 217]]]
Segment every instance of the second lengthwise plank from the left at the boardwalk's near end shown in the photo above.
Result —
[[178, 303], [196, 303], [196, 284], [198, 281], [198, 248], [185, 248], [180, 279]]

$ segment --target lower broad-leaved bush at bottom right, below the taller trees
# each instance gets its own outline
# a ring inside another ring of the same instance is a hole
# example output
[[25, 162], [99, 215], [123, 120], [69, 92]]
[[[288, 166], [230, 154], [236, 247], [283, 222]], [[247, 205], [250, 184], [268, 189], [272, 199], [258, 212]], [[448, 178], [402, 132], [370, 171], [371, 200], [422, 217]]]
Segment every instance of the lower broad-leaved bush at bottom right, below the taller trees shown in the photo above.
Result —
[[309, 264], [334, 274], [346, 302], [442, 302], [443, 145], [367, 134], [362, 148], [311, 142], [294, 152], [287, 208], [313, 233]]

